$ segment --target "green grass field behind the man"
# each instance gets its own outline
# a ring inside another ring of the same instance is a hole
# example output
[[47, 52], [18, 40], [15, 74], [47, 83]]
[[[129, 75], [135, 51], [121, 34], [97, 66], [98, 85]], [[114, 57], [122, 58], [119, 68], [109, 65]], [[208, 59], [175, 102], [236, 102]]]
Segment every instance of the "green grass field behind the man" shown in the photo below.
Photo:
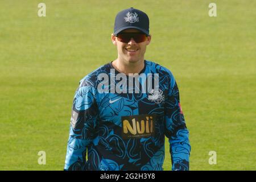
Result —
[[[38, 17], [38, 3], [46, 17]], [[209, 3], [217, 17], [209, 17]], [[191, 170], [256, 169], [255, 1], [0, 2], [0, 170], [63, 170], [79, 80], [117, 57], [118, 11], [150, 17], [145, 59], [169, 68], [190, 132]], [[46, 165], [38, 152], [46, 151]], [[209, 151], [217, 152], [210, 165]], [[166, 140], [164, 169], [170, 170]]]

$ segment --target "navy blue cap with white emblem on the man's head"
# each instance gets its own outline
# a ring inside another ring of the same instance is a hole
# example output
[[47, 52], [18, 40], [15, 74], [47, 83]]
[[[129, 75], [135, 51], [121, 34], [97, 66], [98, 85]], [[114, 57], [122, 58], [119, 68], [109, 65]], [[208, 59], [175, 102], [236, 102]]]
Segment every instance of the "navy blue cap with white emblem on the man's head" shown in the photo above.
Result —
[[149, 35], [149, 19], [147, 14], [133, 7], [120, 11], [115, 16], [114, 35], [128, 28], [135, 28]]

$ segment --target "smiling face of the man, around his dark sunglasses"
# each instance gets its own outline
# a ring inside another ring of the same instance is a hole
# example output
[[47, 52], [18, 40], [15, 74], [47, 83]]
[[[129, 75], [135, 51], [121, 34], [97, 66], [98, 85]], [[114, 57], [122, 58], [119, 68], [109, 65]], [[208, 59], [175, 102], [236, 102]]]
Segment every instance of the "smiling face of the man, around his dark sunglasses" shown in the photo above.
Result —
[[[121, 33], [141, 32], [137, 29], [126, 29]], [[146, 46], [150, 44], [151, 36], [147, 36], [146, 40], [141, 43], [137, 43], [133, 38], [128, 43], [120, 42], [114, 34], [112, 34], [112, 42], [117, 46], [118, 58], [125, 61], [126, 64], [131, 62], [143, 61], [144, 54], [146, 52]]]

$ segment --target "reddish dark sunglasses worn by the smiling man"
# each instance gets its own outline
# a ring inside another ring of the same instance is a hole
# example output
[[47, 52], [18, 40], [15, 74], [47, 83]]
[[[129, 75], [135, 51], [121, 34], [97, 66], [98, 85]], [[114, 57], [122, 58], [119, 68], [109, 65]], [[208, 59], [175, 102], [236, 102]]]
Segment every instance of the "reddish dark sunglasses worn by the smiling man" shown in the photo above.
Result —
[[129, 43], [131, 38], [133, 38], [136, 43], [141, 43], [141, 42], [144, 42], [146, 40], [146, 34], [122, 33], [122, 34], [118, 34], [118, 36], [117, 36], [117, 39], [120, 42], [123, 42], [123, 43]]

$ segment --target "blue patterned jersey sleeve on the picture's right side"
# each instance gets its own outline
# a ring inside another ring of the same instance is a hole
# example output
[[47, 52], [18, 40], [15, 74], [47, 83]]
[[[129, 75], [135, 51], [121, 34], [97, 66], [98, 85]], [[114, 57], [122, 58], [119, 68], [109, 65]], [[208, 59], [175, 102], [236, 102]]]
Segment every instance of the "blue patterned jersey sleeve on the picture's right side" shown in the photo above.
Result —
[[188, 171], [191, 146], [188, 139], [188, 129], [180, 106], [179, 89], [173, 76], [171, 77], [170, 85], [170, 92], [166, 100], [165, 134], [170, 143], [172, 170]]

